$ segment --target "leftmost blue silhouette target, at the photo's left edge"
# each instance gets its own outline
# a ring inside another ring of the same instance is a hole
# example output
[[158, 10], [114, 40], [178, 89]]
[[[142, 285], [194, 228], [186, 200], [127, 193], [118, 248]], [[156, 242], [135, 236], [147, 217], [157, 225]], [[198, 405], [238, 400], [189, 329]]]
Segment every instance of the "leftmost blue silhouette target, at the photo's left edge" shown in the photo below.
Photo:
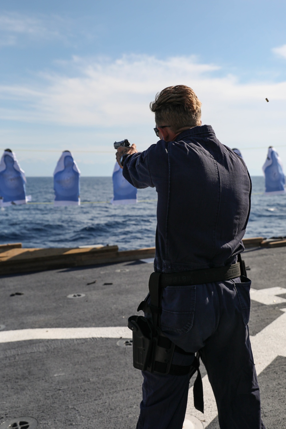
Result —
[[15, 153], [7, 149], [0, 160], [0, 205], [26, 204], [26, 178]]

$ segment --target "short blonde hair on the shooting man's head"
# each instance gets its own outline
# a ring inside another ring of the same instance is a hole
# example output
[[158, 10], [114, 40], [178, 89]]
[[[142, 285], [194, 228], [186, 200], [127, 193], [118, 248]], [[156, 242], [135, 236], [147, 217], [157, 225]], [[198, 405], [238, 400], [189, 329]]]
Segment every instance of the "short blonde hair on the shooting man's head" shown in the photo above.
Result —
[[151, 101], [151, 112], [155, 113], [155, 122], [169, 125], [174, 132], [184, 127], [201, 125], [202, 103], [186, 85], [169, 86], [156, 94]]

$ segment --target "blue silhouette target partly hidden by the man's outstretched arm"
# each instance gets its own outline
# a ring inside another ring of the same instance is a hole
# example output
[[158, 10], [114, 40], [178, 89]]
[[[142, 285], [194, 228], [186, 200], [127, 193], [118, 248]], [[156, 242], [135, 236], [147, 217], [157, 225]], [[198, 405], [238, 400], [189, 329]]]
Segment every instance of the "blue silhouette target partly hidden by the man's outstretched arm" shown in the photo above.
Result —
[[115, 164], [113, 175], [113, 198], [111, 204], [135, 204], [137, 202], [137, 189], [127, 181], [122, 174], [122, 169]]

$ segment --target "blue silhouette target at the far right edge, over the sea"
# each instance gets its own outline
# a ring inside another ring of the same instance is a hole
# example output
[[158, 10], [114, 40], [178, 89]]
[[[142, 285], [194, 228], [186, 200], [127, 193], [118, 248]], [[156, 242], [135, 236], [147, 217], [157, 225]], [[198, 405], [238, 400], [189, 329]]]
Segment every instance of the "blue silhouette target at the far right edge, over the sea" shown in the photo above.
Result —
[[282, 162], [272, 146], [268, 148], [268, 155], [262, 170], [265, 175], [265, 194], [279, 195], [285, 193]]

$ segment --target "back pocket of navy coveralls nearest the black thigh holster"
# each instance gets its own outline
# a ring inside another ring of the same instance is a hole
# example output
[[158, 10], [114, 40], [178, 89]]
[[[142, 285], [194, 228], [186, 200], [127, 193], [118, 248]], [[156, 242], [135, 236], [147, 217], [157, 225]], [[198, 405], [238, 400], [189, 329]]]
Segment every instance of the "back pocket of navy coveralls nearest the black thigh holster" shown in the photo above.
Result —
[[193, 326], [196, 286], [168, 286], [163, 290], [161, 327], [184, 334]]

